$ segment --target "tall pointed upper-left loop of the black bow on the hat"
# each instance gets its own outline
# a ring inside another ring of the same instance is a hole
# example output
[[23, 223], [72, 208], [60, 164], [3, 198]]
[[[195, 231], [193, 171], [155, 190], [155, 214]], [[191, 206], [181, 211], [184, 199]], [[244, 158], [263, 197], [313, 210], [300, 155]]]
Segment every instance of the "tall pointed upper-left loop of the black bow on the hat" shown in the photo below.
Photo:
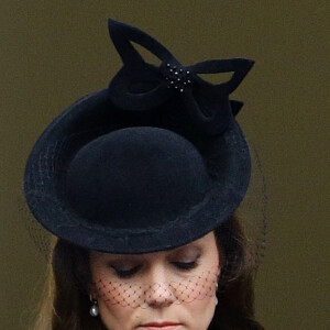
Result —
[[109, 19], [108, 29], [113, 45], [124, 65], [144, 64], [141, 54], [134, 48], [131, 42], [143, 46], [163, 62], [178, 63], [161, 43], [135, 26]]

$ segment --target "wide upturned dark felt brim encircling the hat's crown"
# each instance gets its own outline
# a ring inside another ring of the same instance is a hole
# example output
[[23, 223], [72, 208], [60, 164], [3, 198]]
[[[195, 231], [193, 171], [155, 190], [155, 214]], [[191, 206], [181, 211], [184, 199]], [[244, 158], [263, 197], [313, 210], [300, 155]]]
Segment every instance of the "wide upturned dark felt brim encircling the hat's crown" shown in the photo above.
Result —
[[204, 237], [223, 223], [241, 204], [251, 174], [249, 146], [234, 119], [222, 135], [210, 138], [201, 148], [198, 146], [211, 185], [204, 200], [187, 215], [158, 227], [114, 229], [91, 226], [59, 198], [66, 164], [81, 144], [125, 127], [162, 127], [162, 122], [156, 120], [162, 111], [129, 113], [118, 109], [111, 102], [108, 90], [103, 89], [79, 99], [59, 114], [35, 143], [25, 167], [25, 198], [36, 220], [54, 235], [70, 243], [121, 254], [174, 249]]

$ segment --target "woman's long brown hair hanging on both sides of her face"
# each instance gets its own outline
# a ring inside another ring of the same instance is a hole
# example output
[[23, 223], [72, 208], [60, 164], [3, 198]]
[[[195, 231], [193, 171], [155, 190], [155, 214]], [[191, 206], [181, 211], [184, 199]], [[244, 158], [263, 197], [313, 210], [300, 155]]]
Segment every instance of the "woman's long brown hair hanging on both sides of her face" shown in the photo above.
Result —
[[[254, 320], [254, 268], [248, 257], [239, 217], [234, 215], [218, 227], [215, 235], [224, 252], [226, 266], [219, 279], [219, 304], [208, 329], [264, 329]], [[91, 283], [88, 250], [58, 239], [37, 319], [31, 330], [106, 330], [99, 317], [89, 315], [88, 283]]]

